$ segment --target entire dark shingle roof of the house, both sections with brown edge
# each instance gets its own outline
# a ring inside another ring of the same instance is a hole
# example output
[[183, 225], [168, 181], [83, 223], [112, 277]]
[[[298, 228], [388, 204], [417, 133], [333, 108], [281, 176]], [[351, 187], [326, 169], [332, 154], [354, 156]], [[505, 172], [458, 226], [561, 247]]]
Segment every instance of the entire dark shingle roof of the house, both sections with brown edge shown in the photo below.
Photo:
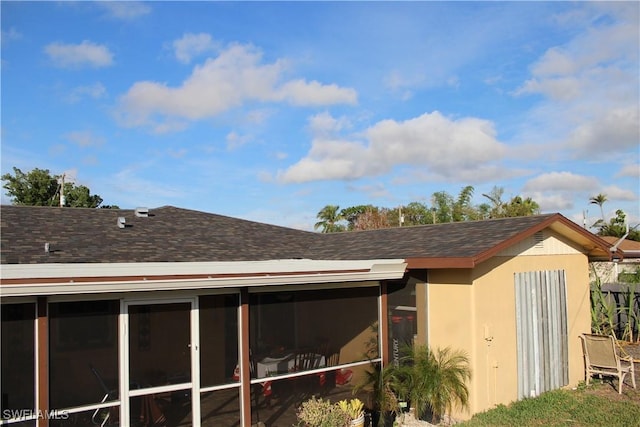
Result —
[[557, 222], [606, 252], [604, 241], [559, 214], [332, 234], [171, 206], [148, 218], [133, 210], [2, 206], [0, 218], [2, 264], [413, 258], [462, 267]]

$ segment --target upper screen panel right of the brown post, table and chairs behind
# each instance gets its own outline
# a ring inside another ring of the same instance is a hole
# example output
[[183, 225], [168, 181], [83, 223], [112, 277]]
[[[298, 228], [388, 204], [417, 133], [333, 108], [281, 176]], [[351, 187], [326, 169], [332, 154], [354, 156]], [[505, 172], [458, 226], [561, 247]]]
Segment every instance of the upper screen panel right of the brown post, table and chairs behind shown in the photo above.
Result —
[[301, 353], [319, 355], [309, 369], [378, 357], [378, 292], [362, 287], [252, 294], [254, 376], [300, 369], [294, 359]]

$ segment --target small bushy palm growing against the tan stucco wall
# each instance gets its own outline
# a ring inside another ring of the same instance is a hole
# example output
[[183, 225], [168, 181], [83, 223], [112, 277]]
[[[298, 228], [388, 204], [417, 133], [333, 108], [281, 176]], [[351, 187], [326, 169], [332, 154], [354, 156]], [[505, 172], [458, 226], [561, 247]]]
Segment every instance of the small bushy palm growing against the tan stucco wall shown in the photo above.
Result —
[[471, 369], [465, 352], [449, 347], [432, 351], [426, 345], [408, 350], [397, 368], [397, 376], [404, 379], [399, 394], [411, 401], [417, 418], [430, 411], [436, 423], [454, 407], [464, 409], [469, 405], [466, 383], [471, 379]]

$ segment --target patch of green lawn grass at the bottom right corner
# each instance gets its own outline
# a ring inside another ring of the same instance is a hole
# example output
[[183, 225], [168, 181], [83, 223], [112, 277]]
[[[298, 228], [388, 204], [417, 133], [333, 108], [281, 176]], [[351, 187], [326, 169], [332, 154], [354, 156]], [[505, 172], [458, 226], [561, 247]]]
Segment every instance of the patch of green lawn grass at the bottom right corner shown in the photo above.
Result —
[[638, 426], [640, 394], [615, 396], [598, 393], [606, 384], [577, 390], [554, 390], [509, 406], [499, 405], [465, 423], [476, 426]]

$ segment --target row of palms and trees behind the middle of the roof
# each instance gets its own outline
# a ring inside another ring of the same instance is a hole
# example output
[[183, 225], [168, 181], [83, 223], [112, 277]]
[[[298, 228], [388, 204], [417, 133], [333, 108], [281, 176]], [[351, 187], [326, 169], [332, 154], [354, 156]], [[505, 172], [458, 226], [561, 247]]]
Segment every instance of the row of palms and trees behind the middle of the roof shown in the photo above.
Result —
[[319, 229], [322, 233], [336, 233], [540, 213], [540, 206], [531, 197], [514, 196], [508, 201], [502, 200], [502, 187], [495, 186], [489, 193], [483, 193], [482, 196], [487, 201], [480, 204], [472, 202], [474, 191], [471, 185], [463, 187], [457, 196], [438, 191], [431, 196], [431, 205], [411, 202], [395, 208], [358, 205], [343, 209], [337, 205], [327, 205], [318, 212], [318, 222], [314, 229]]

